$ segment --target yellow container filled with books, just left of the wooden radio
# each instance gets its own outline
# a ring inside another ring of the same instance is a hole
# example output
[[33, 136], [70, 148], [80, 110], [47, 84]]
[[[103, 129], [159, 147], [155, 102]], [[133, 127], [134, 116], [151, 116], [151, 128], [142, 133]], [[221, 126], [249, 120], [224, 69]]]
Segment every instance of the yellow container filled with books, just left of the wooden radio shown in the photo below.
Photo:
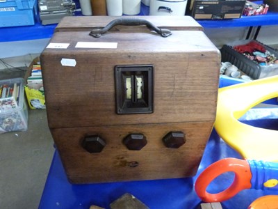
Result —
[[30, 109], [45, 109], [42, 69], [38, 58], [34, 59], [26, 72], [24, 88]]

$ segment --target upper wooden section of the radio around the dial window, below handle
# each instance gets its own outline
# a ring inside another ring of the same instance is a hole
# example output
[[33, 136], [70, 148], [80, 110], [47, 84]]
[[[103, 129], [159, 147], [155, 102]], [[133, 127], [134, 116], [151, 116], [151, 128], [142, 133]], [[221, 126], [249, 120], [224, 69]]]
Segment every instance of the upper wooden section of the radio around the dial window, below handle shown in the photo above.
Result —
[[[77, 49], [78, 41], [117, 42], [117, 49]], [[107, 33], [60, 32], [41, 56], [50, 127], [213, 121], [220, 54], [202, 31]], [[75, 67], [61, 65], [74, 59]], [[154, 65], [154, 113], [115, 113], [115, 65]], [[82, 122], [82, 123], [81, 123]]]

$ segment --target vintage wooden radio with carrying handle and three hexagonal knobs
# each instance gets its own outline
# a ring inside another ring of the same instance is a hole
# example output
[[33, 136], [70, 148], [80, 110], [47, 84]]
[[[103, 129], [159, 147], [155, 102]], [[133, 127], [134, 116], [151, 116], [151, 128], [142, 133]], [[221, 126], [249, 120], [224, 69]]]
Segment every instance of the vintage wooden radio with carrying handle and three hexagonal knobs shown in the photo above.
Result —
[[220, 52], [192, 17], [65, 17], [40, 59], [71, 183], [195, 175]]

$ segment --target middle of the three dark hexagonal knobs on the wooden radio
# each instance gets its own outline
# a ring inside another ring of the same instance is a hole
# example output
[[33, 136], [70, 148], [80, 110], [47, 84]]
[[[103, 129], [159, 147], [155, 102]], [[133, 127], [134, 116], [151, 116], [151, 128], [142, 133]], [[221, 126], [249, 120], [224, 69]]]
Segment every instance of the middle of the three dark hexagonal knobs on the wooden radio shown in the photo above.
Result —
[[123, 142], [129, 150], [140, 150], [147, 144], [147, 139], [143, 134], [129, 134]]

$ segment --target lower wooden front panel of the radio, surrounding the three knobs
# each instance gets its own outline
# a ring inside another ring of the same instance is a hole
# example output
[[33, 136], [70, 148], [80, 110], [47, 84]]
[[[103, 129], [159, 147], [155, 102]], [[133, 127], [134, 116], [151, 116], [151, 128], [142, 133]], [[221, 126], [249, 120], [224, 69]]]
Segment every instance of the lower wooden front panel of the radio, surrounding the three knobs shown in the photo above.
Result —
[[[100, 183], [194, 176], [213, 123], [165, 123], [115, 125], [51, 130], [71, 183]], [[175, 149], [163, 144], [170, 131], [182, 131], [186, 144]], [[147, 138], [141, 150], [128, 150], [122, 139], [140, 132]], [[88, 153], [81, 146], [87, 134], [106, 141], [101, 153]], [[138, 164], [137, 167], [133, 167]]]

